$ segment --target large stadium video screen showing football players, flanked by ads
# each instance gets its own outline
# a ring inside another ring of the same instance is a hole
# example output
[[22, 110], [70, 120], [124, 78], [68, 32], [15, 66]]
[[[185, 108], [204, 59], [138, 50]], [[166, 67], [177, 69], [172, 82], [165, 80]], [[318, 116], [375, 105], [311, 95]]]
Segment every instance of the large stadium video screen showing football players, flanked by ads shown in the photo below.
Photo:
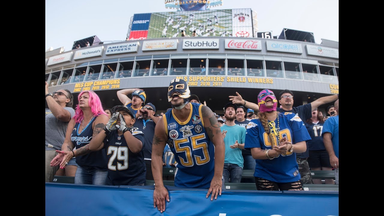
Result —
[[[247, 9], [134, 14], [129, 40], [182, 37], [253, 37]], [[195, 33], [195, 34], [194, 34]]]

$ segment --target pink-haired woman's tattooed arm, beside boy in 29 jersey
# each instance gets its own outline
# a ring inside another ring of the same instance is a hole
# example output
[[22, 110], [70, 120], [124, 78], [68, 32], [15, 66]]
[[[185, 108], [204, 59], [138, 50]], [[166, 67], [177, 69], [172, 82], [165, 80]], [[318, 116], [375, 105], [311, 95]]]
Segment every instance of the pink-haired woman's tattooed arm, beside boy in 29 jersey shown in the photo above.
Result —
[[[104, 114], [101, 114], [101, 115], [96, 117], [96, 120], [93, 122], [93, 125], [92, 125], [93, 133], [92, 133], [92, 140], [91, 141], [96, 139], [96, 141], [94, 142], [94, 145], [91, 146], [92, 150], [89, 149], [90, 143], [88, 143], [87, 145], [74, 150], [73, 152], [74, 152], [75, 156], [86, 155], [86, 154], [90, 153], [91, 151], [98, 151], [101, 148], [103, 148], [103, 146], [104, 146], [103, 141], [104, 141], [104, 138], [106, 136], [106, 134], [104, 133], [105, 132], [104, 127], [108, 123], [108, 120], [109, 120], [108, 116], [104, 115]], [[99, 136], [98, 134], [101, 131], [103, 131], [103, 132]]]

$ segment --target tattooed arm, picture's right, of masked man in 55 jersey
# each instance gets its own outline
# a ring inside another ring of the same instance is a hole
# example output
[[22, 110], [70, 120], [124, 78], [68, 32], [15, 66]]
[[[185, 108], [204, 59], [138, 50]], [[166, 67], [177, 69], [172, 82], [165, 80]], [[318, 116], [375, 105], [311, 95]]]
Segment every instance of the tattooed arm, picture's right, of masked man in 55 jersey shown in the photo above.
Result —
[[209, 139], [215, 145], [215, 149], [212, 150], [215, 151], [215, 174], [206, 196], [206, 198], [208, 198], [212, 192], [211, 200], [213, 200], [214, 197], [217, 199], [218, 194], [221, 195], [225, 146], [220, 126], [212, 110], [208, 106], [202, 106], [201, 113], [204, 121], [204, 129]]

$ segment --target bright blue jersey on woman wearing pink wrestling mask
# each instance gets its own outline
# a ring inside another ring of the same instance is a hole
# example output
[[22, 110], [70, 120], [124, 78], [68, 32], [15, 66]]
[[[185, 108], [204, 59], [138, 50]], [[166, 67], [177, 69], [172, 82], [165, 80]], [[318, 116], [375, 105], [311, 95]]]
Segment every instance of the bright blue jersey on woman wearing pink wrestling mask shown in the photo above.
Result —
[[[268, 120], [268, 123], [269, 122]], [[279, 126], [277, 126], [277, 119], [275, 123], [276, 128], [280, 128], [279, 140], [286, 137], [287, 141], [295, 144], [311, 139], [303, 121], [294, 113], [279, 113]], [[273, 137], [273, 139], [275, 143], [277, 143], [277, 136]], [[251, 120], [247, 126], [244, 148], [248, 148], [249, 150], [251, 148], [272, 149], [271, 141], [258, 118]], [[286, 155], [279, 155], [273, 160], [257, 159], [255, 174], [253, 174], [253, 176], [274, 182], [287, 183], [300, 180], [298, 169], [296, 153], [287, 151]]]

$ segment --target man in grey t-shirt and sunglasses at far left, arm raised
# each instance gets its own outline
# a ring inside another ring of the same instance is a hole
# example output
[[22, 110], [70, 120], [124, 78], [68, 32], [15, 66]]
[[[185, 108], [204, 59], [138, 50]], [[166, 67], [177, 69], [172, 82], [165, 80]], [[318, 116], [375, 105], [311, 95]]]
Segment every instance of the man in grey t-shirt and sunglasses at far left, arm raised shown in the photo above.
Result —
[[61, 150], [65, 139], [68, 122], [74, 116], [73, 95], [69, 90], [60, 89], [49, 93], [48, 83], [45, 82], [45, 182], [52, 182], [58, 166], [50, 166], [51, 160]]

